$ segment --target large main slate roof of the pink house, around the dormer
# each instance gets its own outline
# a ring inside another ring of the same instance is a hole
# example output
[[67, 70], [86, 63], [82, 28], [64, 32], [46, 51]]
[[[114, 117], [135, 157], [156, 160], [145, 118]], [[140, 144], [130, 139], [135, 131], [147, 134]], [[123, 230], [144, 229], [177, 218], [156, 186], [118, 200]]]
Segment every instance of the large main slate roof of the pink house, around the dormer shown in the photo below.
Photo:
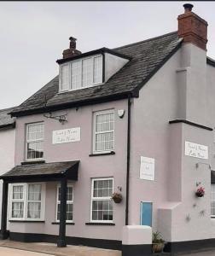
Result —
[[57, 108], [68, 108], [75, 104], [87, 104], [96, 100], [125, 97], [128, 94], [137, 96], [138, 90], [150, 79], [153, 74], [170, 58], [180, 47], [182, 38], [177, 37], [177, 32], [151, 38], [135, 44], [128, 44], [113, 49], [123, 55], [131, 56], [123, 68], [115, 73], [105, 84], [58, 93], [58, 76], [44, 85], [26, 102], [20, 104], [12, 115], [25, 115], [31, 113], [42, 113]]

